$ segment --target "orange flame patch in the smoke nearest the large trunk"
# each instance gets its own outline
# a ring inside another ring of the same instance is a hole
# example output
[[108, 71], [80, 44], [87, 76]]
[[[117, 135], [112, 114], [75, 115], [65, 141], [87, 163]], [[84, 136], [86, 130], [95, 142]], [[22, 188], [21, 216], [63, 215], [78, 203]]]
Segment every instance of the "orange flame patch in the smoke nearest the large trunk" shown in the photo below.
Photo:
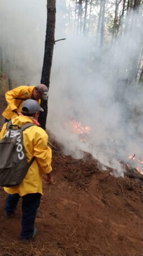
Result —
[[66, 127], [72, 132], [75, 132], [79, 135], [81, 142], [86, 142], [87, 135], [89, 134], [91, 128], [89, 126], [83, 127], [81, 122], [77, 122], [75, 119], [72, 119], [68, 123], [65, 123]]

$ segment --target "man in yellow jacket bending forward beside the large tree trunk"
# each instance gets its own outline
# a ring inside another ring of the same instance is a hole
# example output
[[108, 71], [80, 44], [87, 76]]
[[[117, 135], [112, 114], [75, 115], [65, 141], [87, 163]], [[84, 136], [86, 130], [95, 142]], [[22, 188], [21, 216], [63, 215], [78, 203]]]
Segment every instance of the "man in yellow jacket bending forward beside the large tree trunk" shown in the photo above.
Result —
[[48, 89], [44, 84], [40, 84], [38, 86], [21, 85], [6, 92], [5, 97], [8, 106], [2, 115], [5, 117], [5, 121], [8, 121], [16, 117], [16, 115], [19, 115], [23, 101], [28, 98], [36, 100], [38, 104], [40, 104], [41, 98], [43, 100], [47, 100]]

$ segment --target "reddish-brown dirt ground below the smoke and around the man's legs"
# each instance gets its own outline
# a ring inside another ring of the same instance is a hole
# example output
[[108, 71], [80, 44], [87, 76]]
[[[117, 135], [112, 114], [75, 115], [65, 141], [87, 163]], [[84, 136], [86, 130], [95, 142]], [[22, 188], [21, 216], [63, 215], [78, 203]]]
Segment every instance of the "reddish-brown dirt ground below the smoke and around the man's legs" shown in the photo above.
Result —
[[[1, 112], [4, 106], [1, 97]], [[1, 114], [1, 113], [0, 113]], [[0, 128], [3, 119], [0, 118]], [[6, 193], [0, 188], [1, 256], [141, 256], [143, 255], [143, 183], [115, 178], [85, 153], [84, 159], [53, 150], [52, 186], [44, 182], [38, 209], [38, 236], [19, 241], [21, 205], [4, 215]]]

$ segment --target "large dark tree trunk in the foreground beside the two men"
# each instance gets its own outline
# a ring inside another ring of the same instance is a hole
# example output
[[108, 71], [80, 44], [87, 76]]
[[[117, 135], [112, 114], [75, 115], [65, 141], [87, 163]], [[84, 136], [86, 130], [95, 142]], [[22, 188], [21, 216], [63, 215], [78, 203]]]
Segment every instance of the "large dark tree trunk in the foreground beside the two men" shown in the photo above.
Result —
[[[44, 62], [42, 67], [41, 84], [45, 84], [49, 89], [50, 85], [50, 72], [51, 64], [53, 59], [53, 48], [54, 48], [54, 34], [55, 34], [55, 2], [56, 0], [47, 0], [47, 25], [46, 25], [46, 39], [45, 39], [45, 53]], [[42, 100], [41, 106], [44, 112], [40, 112], [38, 121], [41, 127], [46, 129], [46, 118], [47, 118], [47, 101]]]

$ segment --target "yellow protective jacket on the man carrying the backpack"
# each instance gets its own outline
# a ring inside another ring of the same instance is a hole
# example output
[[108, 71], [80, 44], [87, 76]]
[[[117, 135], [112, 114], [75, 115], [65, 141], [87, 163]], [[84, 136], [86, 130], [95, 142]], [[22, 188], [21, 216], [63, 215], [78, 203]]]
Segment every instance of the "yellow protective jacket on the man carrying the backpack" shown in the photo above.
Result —
[[[33, 122], [31, 117], [19, 115], [18, 117], [11, 120], [13, 125], [24, 125], [27, 122]], [[0, 140], [6, 133], [6, 125], [3, 125]], [[42, 173], [50, 173], [51, 168], [51, 148], [47, 146], [48, 135], [45, 130], [36, 125], [28, 127], [23, 131], [23, 146], [25, 154], [27, 155], [28, 162], [31, 161], [33, 156], [36, 159], [29, 167], [27, 175], [23, 181], [11, 188], [4, 188], [9, 194], [18, 193], [20, 196], [24, 196], [28, 193], [41, 193], [42, 192]]]

